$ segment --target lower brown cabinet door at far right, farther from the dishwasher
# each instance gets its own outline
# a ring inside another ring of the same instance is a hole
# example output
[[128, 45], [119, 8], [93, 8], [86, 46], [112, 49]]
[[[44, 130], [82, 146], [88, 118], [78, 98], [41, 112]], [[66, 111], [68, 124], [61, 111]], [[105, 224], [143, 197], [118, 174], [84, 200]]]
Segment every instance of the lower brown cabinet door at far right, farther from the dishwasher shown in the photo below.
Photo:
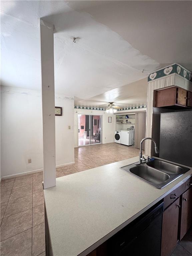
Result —
[[188, 189], [182, 195], [181, 210], [181, 231], [180, 240], [184, 237], [192, 224], [192, 188]]

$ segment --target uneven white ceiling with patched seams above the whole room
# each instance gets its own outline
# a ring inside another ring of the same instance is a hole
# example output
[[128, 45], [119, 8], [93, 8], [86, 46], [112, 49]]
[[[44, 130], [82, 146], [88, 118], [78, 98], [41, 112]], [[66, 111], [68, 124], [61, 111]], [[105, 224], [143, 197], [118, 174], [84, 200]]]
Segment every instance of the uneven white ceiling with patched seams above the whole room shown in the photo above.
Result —
[[77, 105], [146, 104], [147, 73], [192, 69], [191, 11], [192, 1], [2, 1], [1, 84], [40, 90], [44, 17], [55, 25], [57, 94]]

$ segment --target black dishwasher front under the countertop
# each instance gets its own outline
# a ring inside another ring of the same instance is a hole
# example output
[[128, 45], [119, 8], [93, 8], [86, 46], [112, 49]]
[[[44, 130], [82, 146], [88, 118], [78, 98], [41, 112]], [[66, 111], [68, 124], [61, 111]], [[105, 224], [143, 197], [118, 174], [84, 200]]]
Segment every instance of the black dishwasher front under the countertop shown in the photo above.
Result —
[[107, 243], [110, 256], [160, 256], [163, 202], [147, 210], [112, 236]]

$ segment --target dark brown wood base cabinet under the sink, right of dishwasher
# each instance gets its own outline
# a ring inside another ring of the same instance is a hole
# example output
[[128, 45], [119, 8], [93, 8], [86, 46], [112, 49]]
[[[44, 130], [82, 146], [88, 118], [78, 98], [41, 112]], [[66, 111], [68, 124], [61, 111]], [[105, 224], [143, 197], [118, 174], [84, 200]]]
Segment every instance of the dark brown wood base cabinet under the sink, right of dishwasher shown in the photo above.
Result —
[[192, 224], [192, 177], [163, 200], [161, 256], [170, 256]]

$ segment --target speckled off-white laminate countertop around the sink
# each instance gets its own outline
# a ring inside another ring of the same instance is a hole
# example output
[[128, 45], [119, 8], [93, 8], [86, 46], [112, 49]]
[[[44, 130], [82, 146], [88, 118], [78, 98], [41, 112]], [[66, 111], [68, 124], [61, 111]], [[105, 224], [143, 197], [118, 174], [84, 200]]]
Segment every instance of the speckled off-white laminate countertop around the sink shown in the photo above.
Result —
[[54, 256], [87, 255], [192, 175], [157, 189], [120, 167], [138, 157], [56, 179], [44, 190]]

